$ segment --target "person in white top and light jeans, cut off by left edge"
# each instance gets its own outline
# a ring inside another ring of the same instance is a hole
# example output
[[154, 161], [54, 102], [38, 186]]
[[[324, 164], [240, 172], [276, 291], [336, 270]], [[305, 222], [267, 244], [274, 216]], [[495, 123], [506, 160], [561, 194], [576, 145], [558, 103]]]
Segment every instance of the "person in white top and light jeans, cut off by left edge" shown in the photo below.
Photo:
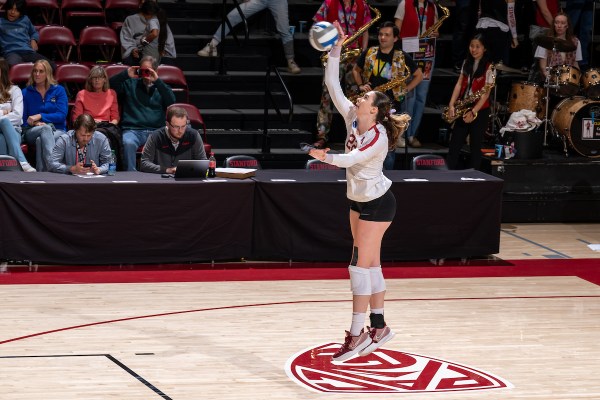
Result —
[[[8, 154], [21, 163], [25, 172], [35, 172], [21, 150], [21, 124], [23, 123], [23, 94], [10, 81], [8, 63], [0, 58], [0, 154]], [[4, 148], [2, 148], [4, 147]]]

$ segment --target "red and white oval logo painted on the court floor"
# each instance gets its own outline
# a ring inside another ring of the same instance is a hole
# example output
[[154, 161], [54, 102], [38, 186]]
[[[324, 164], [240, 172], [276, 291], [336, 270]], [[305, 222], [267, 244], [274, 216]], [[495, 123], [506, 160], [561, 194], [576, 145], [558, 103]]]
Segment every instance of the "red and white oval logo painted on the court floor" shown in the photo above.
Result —
[[509, 389], [497, 376], [466, 365], [418, 354], [379, 349], [365, 357], [332, 361], [338, 343], [292, 356], [287, 375], [300, 386], [327, 393], [431, 393]]

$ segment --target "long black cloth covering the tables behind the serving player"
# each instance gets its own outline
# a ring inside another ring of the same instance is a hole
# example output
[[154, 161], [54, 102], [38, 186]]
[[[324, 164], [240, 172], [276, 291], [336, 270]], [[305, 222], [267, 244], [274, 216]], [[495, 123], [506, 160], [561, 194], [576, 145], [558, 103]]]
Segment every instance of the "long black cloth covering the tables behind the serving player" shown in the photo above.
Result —
[[[386, 174], [398, 211], [384, 237], [384, 261], [498, 252], [502, 180], [477, 171]], [[343, 171], [306, 170], [262, 170], [253, 179], [210, 182], [136, 172], [90, 179], [1, 172], [0, 258], [62, 264], [347, 261], [352, 237], [344, 179]]]

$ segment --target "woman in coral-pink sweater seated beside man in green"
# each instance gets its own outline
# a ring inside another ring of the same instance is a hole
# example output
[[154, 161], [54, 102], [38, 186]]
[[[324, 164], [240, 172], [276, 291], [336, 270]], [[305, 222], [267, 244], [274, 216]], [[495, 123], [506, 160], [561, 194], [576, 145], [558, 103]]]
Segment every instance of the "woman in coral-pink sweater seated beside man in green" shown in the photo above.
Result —
[[119, 104], [117, 94], [110, 89], [106, 71], [99, 65], [92, 67], [85, 82], [85, 89], [80, 90], [75, 98], [72, 118], [81, 114], [89, 114], [96, 121], [96, 130], [106, 136], [110, 147], [117, 157], [117, 169], [123, 169], [123, 140], [119, 128]]

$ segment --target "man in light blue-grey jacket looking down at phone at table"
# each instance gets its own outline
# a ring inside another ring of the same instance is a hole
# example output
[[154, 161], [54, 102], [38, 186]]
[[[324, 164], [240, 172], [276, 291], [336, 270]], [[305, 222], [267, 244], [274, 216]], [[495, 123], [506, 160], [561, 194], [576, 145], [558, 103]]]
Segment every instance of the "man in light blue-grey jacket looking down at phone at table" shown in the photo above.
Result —
[[110, 144], [106, 136], [96, 132], [94, 118], [81, 114], [75, 119], [73, 128], [56, 140], [50, 171], [73, 175], [105, 174], [111, 156]]

